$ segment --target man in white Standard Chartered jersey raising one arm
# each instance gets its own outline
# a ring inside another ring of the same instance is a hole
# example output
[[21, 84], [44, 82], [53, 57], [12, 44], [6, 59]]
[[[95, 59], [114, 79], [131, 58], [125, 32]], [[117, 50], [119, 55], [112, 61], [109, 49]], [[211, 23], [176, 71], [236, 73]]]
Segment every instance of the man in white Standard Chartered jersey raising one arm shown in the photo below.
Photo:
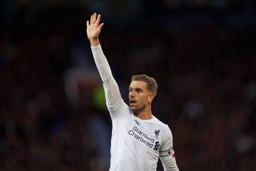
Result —
[[157, 83], [147, 75], [134, 75], [129, 86], [130, 107], [119, 87], [99, 43], [104, 23], [100, 14], [87, 21], [87, 37], [103, 81], [106, 104], [112, 119], [110, 171], [156, 171], [160, 157], [165, 171], [178, 171], [172, 148], [172, 132], [151, 113]]

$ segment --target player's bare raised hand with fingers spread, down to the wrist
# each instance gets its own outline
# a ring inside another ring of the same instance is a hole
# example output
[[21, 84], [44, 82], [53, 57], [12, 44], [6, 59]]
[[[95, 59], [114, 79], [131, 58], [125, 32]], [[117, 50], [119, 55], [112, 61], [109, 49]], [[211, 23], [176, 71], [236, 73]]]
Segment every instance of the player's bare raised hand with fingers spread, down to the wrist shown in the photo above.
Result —
[[[99, 39], [98, 38], [99, 38], [100, 31], [102, 29], [102, 26], [104, 25], [104, 23], [101, 23], [99, 25], [100, 16], [101, 15], [98, 14], [98, 17], [97, 17], [97, 14], [94, 13], [93, 15], [91, 15], [90, 23], [89, 23], [88, 20], [86, 22], [87, 37], [90, 40], [91, 46], [98, 46], [99, 45]], [[97, 17], [97, 20], [96, 20], [96, 17]]]

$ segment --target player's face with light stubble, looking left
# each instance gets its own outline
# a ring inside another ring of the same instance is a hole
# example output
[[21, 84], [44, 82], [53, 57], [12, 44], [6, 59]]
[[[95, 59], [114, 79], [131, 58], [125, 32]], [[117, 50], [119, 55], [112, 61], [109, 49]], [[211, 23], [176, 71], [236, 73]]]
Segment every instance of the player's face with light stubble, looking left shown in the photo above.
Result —
[[[153, 94], [153, 95], [152, 95]], [[152, 101], [154, 93], [147, 89], [147, 83], [144, 81], [131, 81], [129, 87], [130, 108], [135, 115], [141, 113]]]

